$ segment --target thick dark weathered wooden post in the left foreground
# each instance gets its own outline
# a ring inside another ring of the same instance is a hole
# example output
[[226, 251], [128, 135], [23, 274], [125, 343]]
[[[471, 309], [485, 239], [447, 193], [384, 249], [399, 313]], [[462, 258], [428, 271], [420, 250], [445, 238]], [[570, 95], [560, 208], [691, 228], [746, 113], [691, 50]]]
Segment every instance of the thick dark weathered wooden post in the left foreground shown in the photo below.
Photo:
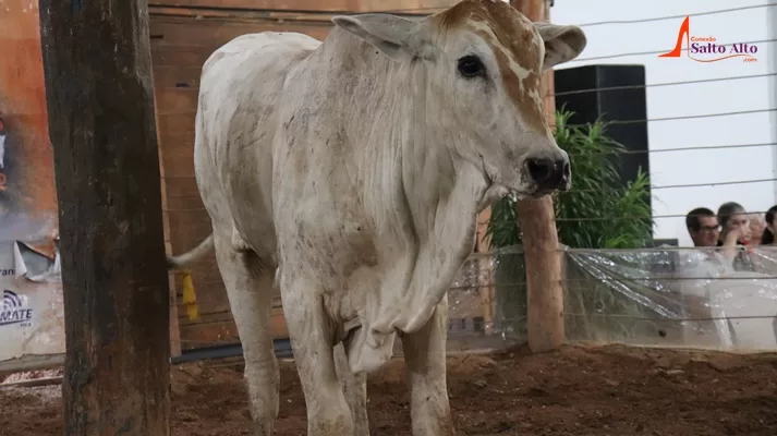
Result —
[[66, 436], [168, 436], [169, 290], [145, 0], [40, 0]]

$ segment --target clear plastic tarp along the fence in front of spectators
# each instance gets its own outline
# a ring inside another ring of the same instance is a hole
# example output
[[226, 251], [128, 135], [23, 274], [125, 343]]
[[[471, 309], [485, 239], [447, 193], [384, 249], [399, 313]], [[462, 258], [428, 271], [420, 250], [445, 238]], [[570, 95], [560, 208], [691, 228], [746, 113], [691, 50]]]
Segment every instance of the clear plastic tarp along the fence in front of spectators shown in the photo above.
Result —
[[[558, 255], [568, 341], [777, 350], [777, 247]], [[449, 336], [524, 341], [526, 292], [520, 246], [470, 256], [449, 293]]]

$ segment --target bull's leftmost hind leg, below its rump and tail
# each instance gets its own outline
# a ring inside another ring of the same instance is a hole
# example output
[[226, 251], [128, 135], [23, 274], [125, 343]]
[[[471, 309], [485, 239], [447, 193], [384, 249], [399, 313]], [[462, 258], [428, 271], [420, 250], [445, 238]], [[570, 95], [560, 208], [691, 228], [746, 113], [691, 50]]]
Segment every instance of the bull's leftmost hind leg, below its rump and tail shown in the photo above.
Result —
[[227, 288], [245, 359], [248, 409], [256, 434], [272, 434], [278, 417], [280, 374], [270, 332], [274, 271], [262, 268], [252, 251], [214, 234], [216, 261]]

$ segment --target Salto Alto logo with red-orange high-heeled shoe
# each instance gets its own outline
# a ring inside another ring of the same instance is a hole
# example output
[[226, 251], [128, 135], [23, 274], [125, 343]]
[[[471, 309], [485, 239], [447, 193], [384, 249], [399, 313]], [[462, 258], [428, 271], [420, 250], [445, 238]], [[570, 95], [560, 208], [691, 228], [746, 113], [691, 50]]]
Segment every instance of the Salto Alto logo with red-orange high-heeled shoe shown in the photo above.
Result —
[[664, 55], [658, 55], [659, 58], [681, 58], [683, 43], [687, 48], [685, 57], [696, 62], [717, 62], [727, 59], [738, 59], [742, 62], [757, 62], [755, 53], [758, 52], [758, 47], [754, 44], [737, 43], [737, 44], [717, 44], [717, 38], [714, 36], [695, 36], [691, 35], [691, 19], [685, 16], [680, 29], [677, 33], [677, 44], [675, 49]]

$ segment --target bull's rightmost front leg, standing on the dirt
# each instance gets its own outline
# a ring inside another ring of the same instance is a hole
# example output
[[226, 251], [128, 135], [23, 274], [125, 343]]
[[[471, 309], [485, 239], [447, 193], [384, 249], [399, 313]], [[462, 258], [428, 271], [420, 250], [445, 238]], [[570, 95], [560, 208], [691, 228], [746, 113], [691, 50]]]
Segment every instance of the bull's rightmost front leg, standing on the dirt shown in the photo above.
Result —
[[418, 331], [402, 336], [413, 436], [454, 436], [446, 382], [448, 295]]

